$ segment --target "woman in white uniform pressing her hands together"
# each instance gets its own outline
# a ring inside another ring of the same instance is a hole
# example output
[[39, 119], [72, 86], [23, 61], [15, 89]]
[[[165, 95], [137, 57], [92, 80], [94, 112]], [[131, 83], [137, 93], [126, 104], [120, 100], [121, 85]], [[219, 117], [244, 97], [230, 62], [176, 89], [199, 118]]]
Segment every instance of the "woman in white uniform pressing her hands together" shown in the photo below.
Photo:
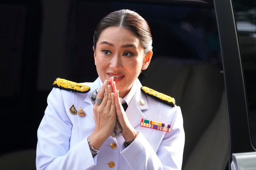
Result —
[[[114, 11], [93, 38], [99, 78], [83, 85], [54, 82], [38, 129], [37, 169], [181, 169], [180, 107], [169, 96], [141, 88], [137, 79], [153, 54], [148, 23], [136, 12]], [[97, 88], [93, 105], [90, 95]], [[123, 131], [111, 137], [116, 118]], [[165, 127], [150, 125], [154, 121]]]

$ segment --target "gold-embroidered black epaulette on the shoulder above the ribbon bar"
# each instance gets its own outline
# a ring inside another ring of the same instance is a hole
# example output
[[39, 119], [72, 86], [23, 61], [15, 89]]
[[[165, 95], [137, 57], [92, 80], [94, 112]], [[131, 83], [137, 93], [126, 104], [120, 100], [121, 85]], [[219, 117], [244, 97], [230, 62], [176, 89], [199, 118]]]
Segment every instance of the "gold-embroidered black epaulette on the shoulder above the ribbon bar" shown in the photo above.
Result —
[[147, 94], [150, 97], [153, 97], [156, 100], [162, 101], [172, 107], [175, 106], [175, 99], [172, 98], [171, 96], [167, 96], [166, 94], [157, 92], [151, 88], [148, 88], [146, 86], [142, 86], [141, 91], [144, 92], [145, 94]]

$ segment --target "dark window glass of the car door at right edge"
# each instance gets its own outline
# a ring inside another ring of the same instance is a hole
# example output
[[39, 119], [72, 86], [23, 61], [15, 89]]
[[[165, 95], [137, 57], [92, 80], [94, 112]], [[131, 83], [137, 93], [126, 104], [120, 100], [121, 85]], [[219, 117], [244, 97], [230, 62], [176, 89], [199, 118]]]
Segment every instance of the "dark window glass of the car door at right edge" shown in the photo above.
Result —
[[256, 2], [233, 0], [252, 144], [256, 147]]

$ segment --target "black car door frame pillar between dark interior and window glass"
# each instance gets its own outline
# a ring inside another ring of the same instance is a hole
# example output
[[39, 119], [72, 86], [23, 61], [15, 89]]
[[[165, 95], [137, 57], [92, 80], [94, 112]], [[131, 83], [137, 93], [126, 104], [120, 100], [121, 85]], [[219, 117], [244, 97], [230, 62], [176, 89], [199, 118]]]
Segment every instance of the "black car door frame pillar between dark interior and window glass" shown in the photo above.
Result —
[[214, 0], [218, 22], [223, 71], [226, 86], [230, 161], [234, 153], [254, 152], [251, 143], [248, 109], [237, 38], [236, 22], [231, 0]]

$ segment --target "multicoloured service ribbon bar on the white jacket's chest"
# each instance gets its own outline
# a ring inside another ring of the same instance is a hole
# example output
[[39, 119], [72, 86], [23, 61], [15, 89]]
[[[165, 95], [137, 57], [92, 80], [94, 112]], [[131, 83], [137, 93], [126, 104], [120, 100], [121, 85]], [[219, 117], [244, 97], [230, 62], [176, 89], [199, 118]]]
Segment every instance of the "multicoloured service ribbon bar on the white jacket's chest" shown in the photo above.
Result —
[[165, 132], [170, 132], [171, 127], [172, 127], [170, 124], [167, 124], [167, 123], [151, 121], [151, 120], [147, 120], [147, 119], [143, 119], [143, 118], [141, 119], [140, 126], [157, 129], [157, 130], [162, 130]]

